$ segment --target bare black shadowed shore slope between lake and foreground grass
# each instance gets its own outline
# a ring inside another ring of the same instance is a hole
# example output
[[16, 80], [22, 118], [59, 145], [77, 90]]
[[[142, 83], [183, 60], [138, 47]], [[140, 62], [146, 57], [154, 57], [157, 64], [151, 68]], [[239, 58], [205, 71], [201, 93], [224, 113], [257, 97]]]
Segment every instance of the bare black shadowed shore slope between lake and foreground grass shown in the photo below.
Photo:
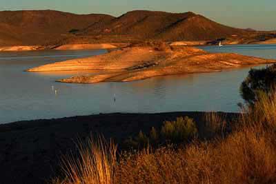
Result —
[[[0, 173], [5, 184], [45, 183], [59, 176], [61, 154], [76, 152], [76, 139], [103, 134], [121, 143], [139, 130], [148, 132], [152, 126], [178, 116], [190, 116], [197, 122], [199, 136], [205, 136], [203, 112], [172, 112], [162, 114], [99, 114], [64, 119], [24, 121], [0, 125]], [[228, 119], [237, 114], [226, 114]]]

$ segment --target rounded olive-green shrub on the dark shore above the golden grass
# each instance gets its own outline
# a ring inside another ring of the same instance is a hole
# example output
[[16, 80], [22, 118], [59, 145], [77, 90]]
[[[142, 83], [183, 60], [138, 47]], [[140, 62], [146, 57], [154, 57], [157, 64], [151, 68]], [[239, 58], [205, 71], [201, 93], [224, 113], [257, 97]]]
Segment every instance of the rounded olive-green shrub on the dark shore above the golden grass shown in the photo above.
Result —
[[189, 117], [179, 117], [177, 121], [165, 121], [161, 127], [161, 135], [172, 143], [188, 141], [197, 134], [197, 125]]

